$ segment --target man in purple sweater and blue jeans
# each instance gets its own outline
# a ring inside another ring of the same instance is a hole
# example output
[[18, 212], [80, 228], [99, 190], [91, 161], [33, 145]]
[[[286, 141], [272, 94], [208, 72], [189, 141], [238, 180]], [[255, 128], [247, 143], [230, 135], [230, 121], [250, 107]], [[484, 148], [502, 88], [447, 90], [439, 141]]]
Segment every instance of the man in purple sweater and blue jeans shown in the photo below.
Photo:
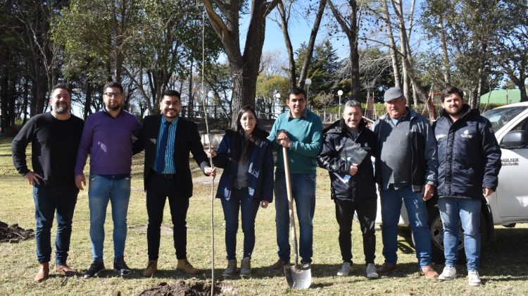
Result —
[[112, 204], [113, 269], [120, 276], [129, 276], [132, 273], [125, 263], [124, 256], [132, 142], [139, 135], [141, 123], [136, 116], [122, 109], [122, 90], [122, 86], [117, 82], [108, 82], [104, 86], [104, 108], [86, 119], [77, 152], [75, 185], [80, 190], [86, 185], [83, 169], [90, 154], [88, 201], [93, 261], [84, 273], [84, 278], [93, 278], [104, 269], [104, 221], [108, 201]]

